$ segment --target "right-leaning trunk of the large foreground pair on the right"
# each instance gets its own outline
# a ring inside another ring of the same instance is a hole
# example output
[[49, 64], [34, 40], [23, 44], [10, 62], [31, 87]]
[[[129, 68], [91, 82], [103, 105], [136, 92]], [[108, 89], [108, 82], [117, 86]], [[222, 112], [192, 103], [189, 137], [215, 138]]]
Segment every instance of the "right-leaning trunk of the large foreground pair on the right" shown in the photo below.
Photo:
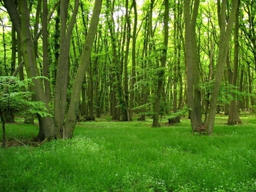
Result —
[[[218, 0], [218, 4], [220, 4], [220, 0]], [[226, 25], [226, 4], [227, 0], [223, 0], [221, 4], [221, 11], [220, 11], [220, 43], [219, 43], [219, 51], [218, 51], [218, 59], [217, 59], [217, 70], [215, 73], [215, 81], [213, 85], [213, 91], [210, 100], [210, 111], [207, 123], [207, 132], [208, 135], [213, 133], [213, 126], [215, 122], [215, 113], [216, 113], [216, 105], [218, 101], [218, 94], [220, 90], [220, 83], [223, 79], [223, 74], [225, 70], [225, 63], [228, 55], [228, 48], [231, 38], [231, 32], [233, 28], [233, 23], [235, 21], [235, 12], [238, 7], [238, 0], [232, 1], [232, 9], [230, 11], [230, 15], [228, 18], [228, 23]]]

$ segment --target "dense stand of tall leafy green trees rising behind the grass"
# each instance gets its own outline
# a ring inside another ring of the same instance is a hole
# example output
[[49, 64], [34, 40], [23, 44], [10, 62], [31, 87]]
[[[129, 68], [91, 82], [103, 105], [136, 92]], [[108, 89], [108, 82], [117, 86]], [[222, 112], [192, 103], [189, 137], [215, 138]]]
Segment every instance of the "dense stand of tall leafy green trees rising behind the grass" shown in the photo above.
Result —
[[29, 87], [53, 114], [40, 140], [102, 114], [159, 127], [185, 106], [211, 134], [216, 112], [255, 111], [255, 15], [254, 0], [4, 0], [0, 75], [44, 77]]

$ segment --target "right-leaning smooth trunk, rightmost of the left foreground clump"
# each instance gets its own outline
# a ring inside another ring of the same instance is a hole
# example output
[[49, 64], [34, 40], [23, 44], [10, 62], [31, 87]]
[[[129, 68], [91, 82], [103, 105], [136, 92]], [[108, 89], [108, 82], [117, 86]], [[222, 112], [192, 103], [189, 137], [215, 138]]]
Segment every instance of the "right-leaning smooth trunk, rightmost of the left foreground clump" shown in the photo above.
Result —
[[82, 82], [85, 77], [85, 70], [90, 62], [90, 53], [92, 50], [92, 44], [94, 42], [95, 34], [97, 31], [97, 23], [100, 17], [100, 11], [102, 8], [102, 0], [95, 0], [95, 6], [92, 11], [92, 18], [90, 20], [90, 27], [88, 29], [87, 36], [85, 38], [85, 45], [82, 50], [81, 60], [78, 66], [78, 72], [75, 75], [73, 83], [70, 106], [68, 108], [67, 118], [65, 120], [65, 127], [63, 129], [63, 138], [72, 138], [76, 124], [76, 117], [79, 112], [80, 104], [80, 91], [82, 88]]

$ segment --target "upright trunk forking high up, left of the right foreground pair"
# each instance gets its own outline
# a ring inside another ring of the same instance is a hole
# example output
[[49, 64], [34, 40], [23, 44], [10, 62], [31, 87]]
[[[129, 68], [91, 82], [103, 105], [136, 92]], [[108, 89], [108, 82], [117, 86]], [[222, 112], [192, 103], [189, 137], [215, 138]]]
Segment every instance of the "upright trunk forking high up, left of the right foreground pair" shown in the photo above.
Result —
[[186, 71], [188, 77], [187, 94], [192, 132], [196, 132], [196, 129], [203, 124], [201, 119], [201, 90], [199, 87], [198, 51], [196, 46], [196, 18], [198, 15], [198, 7], [199, 0], [193, 1], [193, 11], [191, 14], [191, 1], [184, 1]]

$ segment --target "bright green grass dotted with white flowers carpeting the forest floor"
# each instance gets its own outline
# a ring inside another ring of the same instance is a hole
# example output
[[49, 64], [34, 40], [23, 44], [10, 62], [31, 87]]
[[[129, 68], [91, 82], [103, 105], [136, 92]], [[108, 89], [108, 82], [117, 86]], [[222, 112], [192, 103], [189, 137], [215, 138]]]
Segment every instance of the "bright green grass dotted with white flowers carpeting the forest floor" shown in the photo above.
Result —
[[[213, 137], [193, 136], [188, 119], [173, 127], [146, 122], [80, 122], [69, 140], [0, 149], [0, 191], [256, 191], [256, 117]], [[37, 126], [7, 124], [7, 136]]]

